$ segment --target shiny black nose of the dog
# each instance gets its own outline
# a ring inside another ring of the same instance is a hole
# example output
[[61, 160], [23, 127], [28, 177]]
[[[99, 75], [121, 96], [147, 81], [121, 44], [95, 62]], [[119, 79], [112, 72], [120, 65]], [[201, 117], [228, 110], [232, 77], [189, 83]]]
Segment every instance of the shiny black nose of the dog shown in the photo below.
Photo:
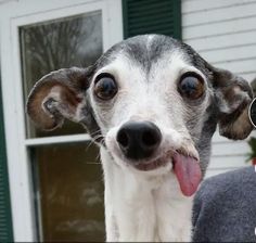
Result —
[[116, 140], [127, 158], [141, 159], [150, 157], [156, 151], [162, 135], [153, 123], [128, 122], [120, 127]]

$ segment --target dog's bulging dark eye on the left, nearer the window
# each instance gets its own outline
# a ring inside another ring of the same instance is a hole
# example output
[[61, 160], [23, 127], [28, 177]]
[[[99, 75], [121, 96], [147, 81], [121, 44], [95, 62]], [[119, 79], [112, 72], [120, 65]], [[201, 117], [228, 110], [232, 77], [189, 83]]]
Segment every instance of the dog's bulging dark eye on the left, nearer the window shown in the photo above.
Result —
[[101, 100], [111, 100], [117, 93], [117, 85], [110, 74], [101, 74], [95, 79], [94, 93]]

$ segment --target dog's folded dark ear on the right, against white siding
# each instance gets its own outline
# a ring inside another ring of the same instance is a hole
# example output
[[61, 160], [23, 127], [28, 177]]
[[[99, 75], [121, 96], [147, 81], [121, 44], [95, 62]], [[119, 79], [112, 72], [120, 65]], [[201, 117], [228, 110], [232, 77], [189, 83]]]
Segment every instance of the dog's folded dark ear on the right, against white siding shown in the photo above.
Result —
[[210, 66], [219, 132], [229, 139], [245, 139], [253, 130], [248, 107], [253, 91], [246, 80], [229, 71]]

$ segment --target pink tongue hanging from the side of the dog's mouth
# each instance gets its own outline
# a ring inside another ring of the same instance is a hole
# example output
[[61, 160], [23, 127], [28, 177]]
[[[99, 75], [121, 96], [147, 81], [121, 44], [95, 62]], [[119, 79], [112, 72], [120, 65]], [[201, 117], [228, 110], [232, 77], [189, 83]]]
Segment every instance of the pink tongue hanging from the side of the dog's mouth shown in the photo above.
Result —
[[174, 170], [182, 193], [185, 196], [193, 195], [202, 179], [200, 163], [193, 157], [179, 153], [176, 153], [172, 158]]

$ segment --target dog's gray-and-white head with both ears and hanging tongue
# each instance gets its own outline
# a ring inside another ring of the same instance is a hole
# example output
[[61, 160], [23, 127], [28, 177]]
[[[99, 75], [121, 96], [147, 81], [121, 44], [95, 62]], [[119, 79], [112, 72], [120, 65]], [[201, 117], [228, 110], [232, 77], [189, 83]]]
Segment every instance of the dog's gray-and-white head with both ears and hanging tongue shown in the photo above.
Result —
[[172, 38], [127, 39], [88, 68], [42, 77], [27, 103], [31, 119], [54, 129], [68, 118], [86, 126], [123, 169], [158, 176], [174, 171], [181, 191], [196, 190], [210, 138], [244, 139], [253, 129], [248, 84], [204, 61]]

